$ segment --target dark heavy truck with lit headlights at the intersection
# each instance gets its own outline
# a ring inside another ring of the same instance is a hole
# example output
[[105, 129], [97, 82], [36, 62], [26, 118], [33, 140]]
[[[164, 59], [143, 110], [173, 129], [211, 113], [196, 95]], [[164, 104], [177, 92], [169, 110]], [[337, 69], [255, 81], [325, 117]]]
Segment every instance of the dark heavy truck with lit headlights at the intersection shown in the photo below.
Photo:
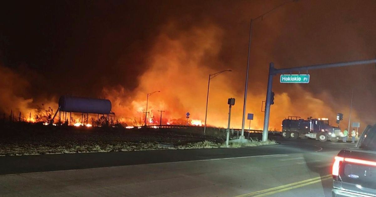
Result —
[[289, 116], [282, 121], [282, 137], [284, 138], [313, 138], [320, 141], [331, 140], [337, 142], [343, 138], [341, 129], [336, 126], [329, 125], [327, 118], [305, 119], [299, 116]]

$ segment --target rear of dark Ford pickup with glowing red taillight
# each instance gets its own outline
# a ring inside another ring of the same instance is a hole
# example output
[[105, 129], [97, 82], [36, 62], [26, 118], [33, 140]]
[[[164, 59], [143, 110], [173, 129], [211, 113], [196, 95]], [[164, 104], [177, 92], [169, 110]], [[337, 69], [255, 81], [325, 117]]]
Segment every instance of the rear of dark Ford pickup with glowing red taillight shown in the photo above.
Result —
[[333, 196], [376, 196], [376, 125], [364, 129], [354, 148], [338, 153], [332, 174]]

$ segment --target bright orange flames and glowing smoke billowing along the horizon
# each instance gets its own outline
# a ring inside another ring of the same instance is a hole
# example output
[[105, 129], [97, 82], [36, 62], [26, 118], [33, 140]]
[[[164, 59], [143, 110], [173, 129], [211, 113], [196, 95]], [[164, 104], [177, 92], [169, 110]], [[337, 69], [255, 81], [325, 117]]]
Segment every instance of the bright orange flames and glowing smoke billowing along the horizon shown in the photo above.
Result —
[[[144, 126], [146, 95], [153, 90], [161, 92], [153, 94], [148, 100], [147, 125], [194, 125], [203, 126], [205, 120], [205, 101], [207, 93], [208, 74], [227, 68], [218, 62], [220, 56], [223, 31], [214, 25], [193, 27], [185, 32], [175, 32], [174, 24], [164, 27], [156, 38], [150, 50], [148, 62], [150, 67], [138, 78], [138, 86], [129, 91], [124, 86], [117, 88], [103, 88], [102, 97], [112, 102], [112, 111], [117, 119], [107, 119], [89, 114], [73, 114], [70, 119], [55, 119], [55, 124], [74, 126], [99, 126], [120, 124], [126, 126]], [[172, 36], [173, 35], [173, 36]], [[164, 50], [160, 50], [163, 48]], [[217, 62], [217, 66], [211, 66]], [[242, 116], [242, 84], [244, 73], [235, 71], [219, 75], [212, 80], [209, 88], [208, 125], [226, 127], [227, 98], [237, 98], [232, 108], [232, 123], [234, 128], [241, 128]], [[48, 123], [52, 119], [58, 104], [56, 97], [50, 100], [32, 98], [25, 99], [26, 89], [30, 87], [28, 81], [11, 69], [0, 67], [2, 95], [0, 97], [4, 119], [12, 121]], [[6, 84], [12, 84], [12, 86]], [[261, 101], [265, 99], [265, 91], [253, 82], [256, 89], [249, 91], [247, 112], [255, 114], [251, 128], [262, 129], [264, 114], [261, 112]], [[235, 86], [237, 84], [237, 86]], [[312, 117], [334, 117], [337, 111], [346, 111], [344, 106], [333, 103], [329, 92], [313, 95], [300, 85], [291, 85], [286, 92], [276, 93], [275, 104], [271, 107], [270, 128], [280, 130], [280, 123], [288, 115]], [[299, 96], [297, 96], [299, 92]], [[45, 102], [43, 102], [45, 101]], [[45, 104], [39, 104], [43, 102]], [[334, 108], [336, 110], [334, 110]], [[162, 122], [158, 110], [164, 110]], [[185, 119], [189, 111], [190, 119]], [[356, 111], [352, 112], [354, 119]], [[17, 114], [20, 116], [17, 117]], [[346, 126], [344, 126], [346, 127]]]

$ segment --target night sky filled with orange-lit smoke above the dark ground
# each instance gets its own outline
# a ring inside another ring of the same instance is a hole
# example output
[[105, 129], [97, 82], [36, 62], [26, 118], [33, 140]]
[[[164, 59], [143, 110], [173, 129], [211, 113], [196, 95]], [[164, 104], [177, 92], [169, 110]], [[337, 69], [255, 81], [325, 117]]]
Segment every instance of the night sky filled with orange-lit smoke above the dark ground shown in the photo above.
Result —
[[[54, 110], [60, 95], [106, 98], [116, 117], [132, 125], [148, 111], [155, 122], [205, 120], [241, 128], [249, 23], [284, 3], [270, 1], [15, 2], [5, 6], [0, 30], [0, 111]], [[11, 5], [12, 4], [12, 5]], [[25, 5], [28, 4], [28, 5]], [[39, 4], [39, 5], [36, 5]], [[15, 12], [17, 10], [17, 14]], [[292, 1], [253, 23], [247, 113], [262, 129], [268, 65], [276, 68], [374, 59], [374, 1]], [[288, 116], [344, 114], [374, 124], [375, 65], [309, 71], [309, 84], [280, 84], [274, 77], [270, 128]], [[249, 122], [246, 121], [246, 128]]]

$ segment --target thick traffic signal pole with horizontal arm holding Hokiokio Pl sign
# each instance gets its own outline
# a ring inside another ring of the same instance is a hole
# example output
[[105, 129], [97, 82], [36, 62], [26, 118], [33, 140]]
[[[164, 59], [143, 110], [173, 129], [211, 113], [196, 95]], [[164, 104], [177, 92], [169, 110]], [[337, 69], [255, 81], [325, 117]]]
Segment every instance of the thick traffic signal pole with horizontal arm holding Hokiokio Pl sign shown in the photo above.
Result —
[[268, 140], [271, 91], [272, 91], [273, 76], [274, 75], [283, 74], [283, 73], [291, 73], [291, 72], [296, 72], [296, 71], [308, 71], [308, 70], [313, 70], [313, 69], [335, 68], [335, 67], [363, 65], [363, 64], [370, 64], [370, 63], [376, 63], [376, 59], [359, 60], [359, 61], [352, 61], [352, 62], [319, 64], [319, 65], [301, 66], [301, 67], [283, 68], [283, 69], [275, 69], [274, 63], [273, 62], [270, 63], [269, 64], [268, 87], [267, 87], [267, 93], [266, 93], [266, 104], [265, 104], [264, 130], [262, 131], [262, 141]]

